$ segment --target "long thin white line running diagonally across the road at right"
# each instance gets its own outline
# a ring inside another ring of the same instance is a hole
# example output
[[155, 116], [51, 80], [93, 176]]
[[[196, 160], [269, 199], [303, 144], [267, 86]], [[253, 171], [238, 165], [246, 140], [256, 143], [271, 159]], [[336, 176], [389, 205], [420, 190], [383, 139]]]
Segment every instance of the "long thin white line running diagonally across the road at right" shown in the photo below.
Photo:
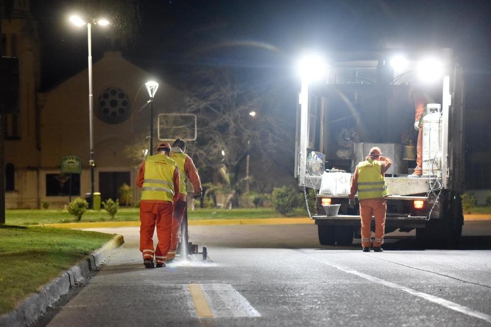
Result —
[[445, 300], [445, 299], [442, 299], [442, 298], [438, 298], [438, 297], [436, 297], [434, 295], [430, 295], [430, 294], [427, 294], [427, 293], [419, 292], [419, 291], [413, 290], [412, 288], [409, 288], [409, 287], [406, 287], [406, 286], [402, 286], [402, 285], [399, 285], [399, 284], [396, 284], [396, 283], [392, 283], [390, 281], [386, 281], [386, 280], [383, 280], [383, 279], [380, 279], [380, 278], [377, 278], [377, 277], [366, 275], [366, 274], [360, 273], [360, 272], [358, 272], [356, 270], [353, 270], [353, 269], [350, 269], [350, 268], [347, 268], [347, 267], [343, 267], [343, 266], [337, 265], [335, 263], [332, 263], [330, 261], [327, 261], [327, 260], [324, 260], [324, 259], [321, 259], [321, 258], [316, 258], [316, 257], [310, 256], [310, 255], [309, 255], [309, 257], [311, 259], [313, 259], [314, 261], [317, 261], [319, 263], [325, 264], [327, 266], [334, 267], [334, 268], [339, 269], [339, 270], [341, 270], [341, 271], [343, 271], [345, 273], [352, 274], [352, 275], [355, 275], [355, 276], [358, 276], [358, 277], [361, 277], [361, 278], [364, 278], [364, 279], [373, 281], [375, 283], [382, 284], [382, 285], [387, 286], [387, 287], [399, 289], [401, 291], [404, 291], [404, 292], [407, 292], [407, 293], [409, 293], [411, 295], [414, 295], [414, 296], [423, 298], [423, 299], [428, 300], [430, 302], [434, 302], [434, 303], [439, 304], [441, 306], [444, 306], [446, 308], [449, 308], [449, 309], [452, 309], [452, 310], [455, 310], [455, 311], [464, 313], [464, 314], [466, 314], [468, 316], [476, 317], [476, 318], [485, 320], [488, 323], [491, 323], [491, 316], [490, 315], [487, 315], [487, 314], [482, 313], [480, 311], [472, 310], [471, 308], [466, 307], [464, 305], [460, 305], [460, 304], [457, 304], [455, 302], [451, 302], [451, 301], [448, 301], [448, 300]]

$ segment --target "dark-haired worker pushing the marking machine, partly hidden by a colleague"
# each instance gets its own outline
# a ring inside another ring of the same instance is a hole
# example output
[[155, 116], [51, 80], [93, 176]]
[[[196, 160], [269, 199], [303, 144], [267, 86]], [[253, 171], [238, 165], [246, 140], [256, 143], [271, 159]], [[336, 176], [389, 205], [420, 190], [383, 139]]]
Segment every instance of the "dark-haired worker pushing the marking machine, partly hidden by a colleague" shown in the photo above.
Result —
[[202, 191], [198, 171], [196, 170], [191, 157], [184, 153], [184, 151], [186, 151], [186, 143], [181, 139], [175, 140], [172, 149], [170, 150], [170, 158], [174, 160], [177, 163], [177, 167], [179, 167], [180, 185], [177, 201], [174, 201], [172, 239], [170, 241], [170, 251], [167, 254], [167, 260], [173, 259], [177, 252], [177, 245], [179, 244], [181, 234], [181, 223], [188, 200], [188, 190], [186, 186], [188, 177], [191, 180], [194, 189], [194, 196], [201, 197]]

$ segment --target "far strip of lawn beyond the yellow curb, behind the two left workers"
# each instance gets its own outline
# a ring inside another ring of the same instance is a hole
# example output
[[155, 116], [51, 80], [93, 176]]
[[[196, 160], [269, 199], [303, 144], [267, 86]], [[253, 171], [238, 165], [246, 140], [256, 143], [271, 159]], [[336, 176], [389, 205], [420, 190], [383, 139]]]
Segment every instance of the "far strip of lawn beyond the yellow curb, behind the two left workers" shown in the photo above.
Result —
[[[298, 208], [287, 215], [287, 217], [306, 217], [304, 209]], [[200, 209], [189, 211], [188, 219], [258, 219], [283, 217], [282, 214], [270, 207], [261, 208], [239, 208], [239, 209]], [[138, 208], [120, 208], [114, 217], [114, 221], [138, 221]], [[9, 225], [36, 225], [36, 224], [58, 224], [75, 223], [77, 219], [66, 210], [38, 210], [38, 209], [9, 209], [5, 212], [5, 221]], [[87, 210], [81, 222], [105, 222], [111, 221], [106, 211]]]

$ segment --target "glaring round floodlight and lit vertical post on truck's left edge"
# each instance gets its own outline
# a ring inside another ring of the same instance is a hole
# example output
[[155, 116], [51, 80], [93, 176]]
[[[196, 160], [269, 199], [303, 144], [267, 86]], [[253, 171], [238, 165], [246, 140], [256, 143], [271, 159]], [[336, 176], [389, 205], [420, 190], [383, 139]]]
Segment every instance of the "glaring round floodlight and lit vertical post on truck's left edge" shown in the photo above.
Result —
[[300, 93], [300, 169], [299, 186], [305, 187], [305, 167], [307, 164], [307, 119], [308, 119], [308, 85], [323, 78], [326, 74], [324, 58], [318, 54], [308, 54], [300, 59], [298, 71], [301, 77]]

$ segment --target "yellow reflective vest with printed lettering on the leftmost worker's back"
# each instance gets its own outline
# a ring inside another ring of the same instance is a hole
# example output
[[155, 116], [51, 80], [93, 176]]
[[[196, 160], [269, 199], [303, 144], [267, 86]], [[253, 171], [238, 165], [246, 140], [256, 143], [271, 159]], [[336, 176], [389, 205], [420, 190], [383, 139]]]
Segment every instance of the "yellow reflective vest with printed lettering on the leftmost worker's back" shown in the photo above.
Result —
[[174, 197], [174, 170], [176, 163], [163, 153], [145, 160], [145, 175], [141, 187], [141, 200], [171, 201]]

